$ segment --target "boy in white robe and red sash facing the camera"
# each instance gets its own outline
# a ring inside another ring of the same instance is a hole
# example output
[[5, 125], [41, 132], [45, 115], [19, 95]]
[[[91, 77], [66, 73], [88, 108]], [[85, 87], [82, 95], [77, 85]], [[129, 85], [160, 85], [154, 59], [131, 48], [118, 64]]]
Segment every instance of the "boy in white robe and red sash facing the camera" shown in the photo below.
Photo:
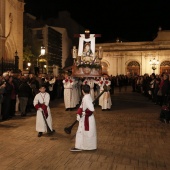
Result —
[[42, 85], [39, 91], [40, 92], [34, 98], [33, 104], [34, 107], [37, 109], [36, 131], [38, 132], [38, 137], [41, 137], [43, 133], [47, 132], [47, 126], [43, 114], [46, 118], [46, 122], [51, 132], [54, 132], [54, 130], [52, 128], [52, 117], [49, 107], [50, 95], [46, 92], [45, 85]]

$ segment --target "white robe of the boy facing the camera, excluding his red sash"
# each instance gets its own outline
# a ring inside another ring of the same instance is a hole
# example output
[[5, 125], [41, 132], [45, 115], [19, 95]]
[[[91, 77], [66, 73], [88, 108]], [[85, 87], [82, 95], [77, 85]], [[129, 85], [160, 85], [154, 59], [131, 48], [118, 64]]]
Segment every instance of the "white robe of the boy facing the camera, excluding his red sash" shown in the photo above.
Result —
[[[45, 97], [44, 97], [45, 95]], [[33, 101], [34, 106], [38, 103], [44, 103], [47, 106], [47, 111], [48, 111], [48, 117], [47, 117], [47, 124], [51, 131], [53, 130], [52, 128], [52, 117], [51, 117], [51, 111], [49, 108], [49, 101], [50, 101], [50, 95], [46, 92], [44, 93], [38, 93]], [[40, 110], [37, 110], [37, 116], [36, 116], [36, 131], [37, 132], [47, 132], [47, 127], [42, 115], [42, 112]]]

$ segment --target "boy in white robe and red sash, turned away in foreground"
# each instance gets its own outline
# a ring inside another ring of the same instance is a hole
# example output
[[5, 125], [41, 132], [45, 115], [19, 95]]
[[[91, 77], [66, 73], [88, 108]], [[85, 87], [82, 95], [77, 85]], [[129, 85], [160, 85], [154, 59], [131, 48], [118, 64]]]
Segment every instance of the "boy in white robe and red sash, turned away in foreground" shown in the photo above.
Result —
[[79, 121], [76, 132], [75, 147], [70, 151], [95, 150], [97, 149], [96, 122], [94, 117], [94, 106], [90, 93], [90, 86], [83, 85], [84, 95], [82, 103], [77, 111]]

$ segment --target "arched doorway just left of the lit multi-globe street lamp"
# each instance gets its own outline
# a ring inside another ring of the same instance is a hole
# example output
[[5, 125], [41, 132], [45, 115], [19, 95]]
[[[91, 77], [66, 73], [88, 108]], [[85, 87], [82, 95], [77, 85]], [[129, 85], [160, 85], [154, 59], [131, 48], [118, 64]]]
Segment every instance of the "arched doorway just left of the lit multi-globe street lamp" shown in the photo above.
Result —
[[127, 75], [139, 75], [140, 74], [140, 64], [137, 61], [131, 61], [127, 65]]

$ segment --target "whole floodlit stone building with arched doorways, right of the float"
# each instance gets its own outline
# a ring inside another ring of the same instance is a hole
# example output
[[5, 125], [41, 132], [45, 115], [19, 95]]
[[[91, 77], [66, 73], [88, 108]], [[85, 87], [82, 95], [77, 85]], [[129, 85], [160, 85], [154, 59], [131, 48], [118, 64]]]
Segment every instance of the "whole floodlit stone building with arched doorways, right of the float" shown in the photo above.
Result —
[[[96, 44], [103, 48], [102, 70], [109, 75], [170, 74], [170, 31], [158, 32], [152, 42]], [[159, 62], [150, 63], [150, 61]], [[155, 67], [155, 68], [154, 68]]]

